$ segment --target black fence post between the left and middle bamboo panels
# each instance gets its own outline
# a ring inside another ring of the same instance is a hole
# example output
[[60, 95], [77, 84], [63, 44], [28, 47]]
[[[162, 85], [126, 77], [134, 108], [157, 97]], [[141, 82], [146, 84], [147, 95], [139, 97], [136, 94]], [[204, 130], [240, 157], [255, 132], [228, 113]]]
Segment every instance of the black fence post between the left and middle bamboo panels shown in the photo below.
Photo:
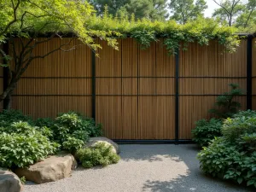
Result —
[[91, 117], [96, 119], [96, 54], [91, 50]]

